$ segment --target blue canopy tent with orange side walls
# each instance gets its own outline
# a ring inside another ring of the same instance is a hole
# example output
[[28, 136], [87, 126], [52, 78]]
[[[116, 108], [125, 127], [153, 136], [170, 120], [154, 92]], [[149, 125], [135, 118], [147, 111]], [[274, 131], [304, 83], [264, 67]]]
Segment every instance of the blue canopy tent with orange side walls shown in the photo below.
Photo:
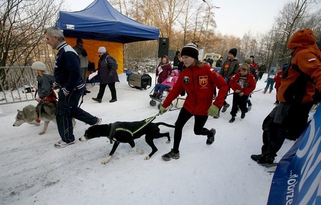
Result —
[[97, 69], [98, 48], [104, 46], [118, 63], [117, 73], [124, 70], [123, 44], [158, 40], [159, 29], [140, 24], [115, 10], [106, 0], [95, 0], [79, 12], [59, 12], [56, 27], [62, 29], [66, 42], [84, 41], [88, 61]]

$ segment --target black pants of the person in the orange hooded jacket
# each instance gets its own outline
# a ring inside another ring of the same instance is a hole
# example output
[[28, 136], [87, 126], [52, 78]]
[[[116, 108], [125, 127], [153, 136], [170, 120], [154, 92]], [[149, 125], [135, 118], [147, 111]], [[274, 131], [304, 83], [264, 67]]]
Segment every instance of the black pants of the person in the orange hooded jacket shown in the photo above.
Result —
[[[262, 154], [271, 153], [276, 156], [286, 136], [297, 139], [306, 127], [312, 105], [313, 103], [279, 103], [263, 121]], [[278, 113], [282, 115], [282, 120], [276, 122], [275, 118], [279, 117]]]

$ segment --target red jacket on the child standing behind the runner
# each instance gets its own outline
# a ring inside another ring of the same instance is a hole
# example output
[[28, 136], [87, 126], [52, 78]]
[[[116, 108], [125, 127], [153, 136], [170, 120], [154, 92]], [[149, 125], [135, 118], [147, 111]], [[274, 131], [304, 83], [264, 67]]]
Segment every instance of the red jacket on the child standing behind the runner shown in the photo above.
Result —
[[244, 82], [244, 88], [241, 87], [241, 85], [238, 83], [239, 79], [241, 77], [241, 73], [237, 72], [230, 80], [230, 87], [232, 90], [240, 90], [244, 93], [244, 95], [249, 95], [256, 87], [256, 81], [254, 76], [249, 73], [247, 75], [247, 78]]

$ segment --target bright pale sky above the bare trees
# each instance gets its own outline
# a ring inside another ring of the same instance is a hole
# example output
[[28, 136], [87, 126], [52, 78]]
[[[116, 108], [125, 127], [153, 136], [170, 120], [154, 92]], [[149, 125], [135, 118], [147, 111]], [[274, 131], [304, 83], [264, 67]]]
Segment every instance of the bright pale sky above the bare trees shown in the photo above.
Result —
[[[199, 0], [201, 1], [201, 0]], [[81, 11], [93, 0], [65, 0], [71, 11]], [[271, 29], [274, 17], [288, 0], [208, 0], [214, 9], [216, 31], [223, 35], [242, 37], [249, 30], [254, 34], [264, 33]], [[204, 3], [204, 8], [208, 6]]]

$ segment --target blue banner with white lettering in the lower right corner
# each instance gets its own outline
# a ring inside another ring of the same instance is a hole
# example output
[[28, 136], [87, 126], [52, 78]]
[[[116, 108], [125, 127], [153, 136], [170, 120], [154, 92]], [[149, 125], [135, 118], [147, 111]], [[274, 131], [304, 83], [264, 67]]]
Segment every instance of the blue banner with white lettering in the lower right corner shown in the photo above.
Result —
[[321, 204], [321, 108], [278, 163], [267, 204]]

